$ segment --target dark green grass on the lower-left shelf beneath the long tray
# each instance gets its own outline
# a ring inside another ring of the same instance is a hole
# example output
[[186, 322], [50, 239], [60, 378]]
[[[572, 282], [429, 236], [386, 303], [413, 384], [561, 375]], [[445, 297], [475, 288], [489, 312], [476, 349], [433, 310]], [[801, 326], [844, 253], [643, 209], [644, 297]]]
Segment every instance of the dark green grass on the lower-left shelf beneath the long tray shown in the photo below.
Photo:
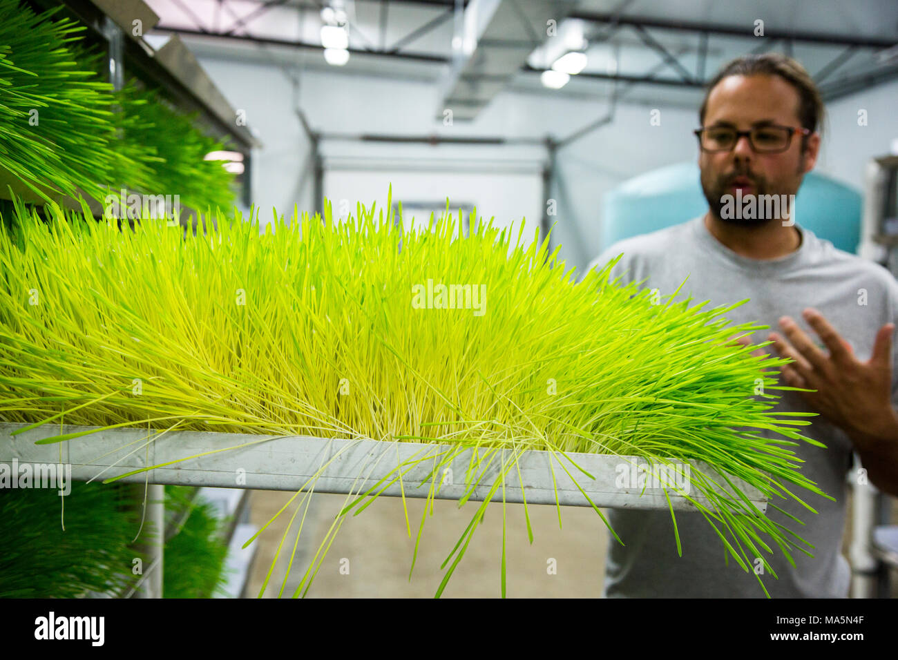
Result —
[[[194, 490], [165, 488], [166, 598], [207, 598], [225, 583], [223, 523]], [[152, 536], [140, 491], [73, 481], [63, 501], [54, 488], [0, 489], [0, 598], [128, 593], [134, 560], [145, 561], [132, 541]]]

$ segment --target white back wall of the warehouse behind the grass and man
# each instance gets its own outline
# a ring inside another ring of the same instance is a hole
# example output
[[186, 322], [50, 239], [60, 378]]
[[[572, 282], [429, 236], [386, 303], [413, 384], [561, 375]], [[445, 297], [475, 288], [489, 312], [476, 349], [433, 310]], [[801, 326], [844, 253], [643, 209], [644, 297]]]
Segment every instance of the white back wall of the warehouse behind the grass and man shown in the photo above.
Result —
[[[313, 171], [309, 145], [295, 117], [293, 89], [273, 65], [249, 64], [216, 57], [201, 63], [236, 108], [247, 111], [264, 147], [253, 163], [253, 198], [267, 220], [271, 207], [281, 213], [313, 210]], [[437, 119], [437, 85], [339, 71], [309, 69], [299, 73], [299, 102], [316, 130], [348, 134], [447, 136], [568, 136], [608, 110], [607, 101], [565, 99], [550, 92], [503, 92], [474, 122], [444, 126]], [[858, 188], [867, 161], [885, 154], [898, 137], [894, 104], [898, 83], [834, 101], [818, 169]], [[867, 126], [858, 126], [858, 109], [867, 110]], [[611, 124], [558, 152], [550, 198], [557, 201], [552, 243], [562, 244], [560, 256], [568, 268], [582, 268], [601, 249], [599, 237], [605, 193], [642, 172], [670, 163], [691, 161], [698, 151], [691, 130], [698, 125], [696, 109], [659, 106], [660, 125], [650, 121], [653, 107], [622, 103]], [[393, 199], [450, 198], [471, 203], [480, 216], [495, 216], [497, 224], [518, 224], [528, 230], [540, 222], [546, 208], [539, 172], [546, 159], [540, 145], [445, 146], [326, 142], [326, 163], [341, 163], [324, 180], [325, 196], [365, 205]], [[347, 166], [364, 165], [365, 171]], [[509, 168], [521, 172], [500, 175]], [[529, 172], [529, 173], [527, 173]], [[335, 208], [338, 204], [335, 204]], [[530, 233], [529, 231], [527, 233]]]

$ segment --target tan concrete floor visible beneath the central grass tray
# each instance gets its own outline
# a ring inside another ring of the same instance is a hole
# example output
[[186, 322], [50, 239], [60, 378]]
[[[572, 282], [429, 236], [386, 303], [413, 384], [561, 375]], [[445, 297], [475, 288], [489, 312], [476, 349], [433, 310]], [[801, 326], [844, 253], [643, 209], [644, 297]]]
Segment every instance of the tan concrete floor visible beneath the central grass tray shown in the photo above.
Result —
[[[251, 522], [266, 524], [292, 493], [254, 491]], [[315, 495], [303, 529], [294, 568], [286, 580], [285, 597], [299, 584], [309, 560], [343, 506], [342, 495]], [[295, 500], [295, 502], [298, 501]], [[458, 508], [453, 500], [436, 500], [433, 515], [424, 524], [414, 574], [409, 567], [415, 536], [424, 512], [424, 500], [406, 499], [412, 538], [405, 524], [399, 497], [379, 497], [360, 515], [349, 517], [330, 545], [307, 597], [402, 598], [432, 597], [444, 571], [443, 560], [462, 536], [480, 503]], [[295, 506], [295, 503], [294, 503]], [[256, 597], [277, 552], [293, 507], [263, 532], [247, 594]], [[607, 531], [592, 508], [563, 507], [559, 530], [554, 506], [527, 507], [533, 528], [533, 545], [527, 541], [523, 505], [506, 505], [506, 594], [508, 597], [598, 597], [602, 594]], [[277, 598], [284, 582], [294, 532], [284, 541], [281, 559], [263, 597]], [[489, 598], [500, 595], [502, 504], [493, 503], [471, 540], [443, 594], [444, 597]], [[555, 573], [550, 574], [550, 559]], [[341, 572], [342, 568], [342, 572]]]

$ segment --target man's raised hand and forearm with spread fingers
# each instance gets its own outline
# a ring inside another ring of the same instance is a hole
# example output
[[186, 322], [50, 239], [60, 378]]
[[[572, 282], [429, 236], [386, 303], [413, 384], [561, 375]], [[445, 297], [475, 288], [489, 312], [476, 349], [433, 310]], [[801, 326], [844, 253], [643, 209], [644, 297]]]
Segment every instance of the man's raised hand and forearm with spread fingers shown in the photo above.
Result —
[[898, 413], [891, 398], [894, 324], [879, 329], [870, 359], [861, 362], [820, 312], [806, 309], [803, 315], [829, 355], [795, 321], [783, 317], [779, 325], [791, 345], [776, 332], [769, 336], [780, 356], [794, 360], [782, 367], [783, 380], [791, 387], [814, 390], [801, 394], [848, 434], [876, 488], [898, 496]]

